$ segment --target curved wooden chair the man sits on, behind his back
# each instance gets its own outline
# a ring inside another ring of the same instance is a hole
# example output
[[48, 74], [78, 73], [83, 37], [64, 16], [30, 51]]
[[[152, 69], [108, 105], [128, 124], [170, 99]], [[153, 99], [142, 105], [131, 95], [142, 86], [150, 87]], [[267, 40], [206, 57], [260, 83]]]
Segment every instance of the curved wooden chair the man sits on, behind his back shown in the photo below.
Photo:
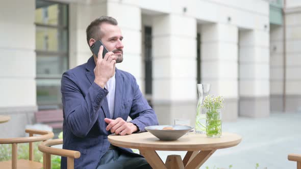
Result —
[[80, 158], [81, 153], [79, 151], [73, 150], [65, 150], [65, 149], [58, 149], [51, 146], [55, 145], [62, 145], [63, 139], [52, 139], [47, 140], [46, 142], [42, 142], [39, 145], [39, 150], [43, 152], [43, 168], [50, 169], [51, 168], [51, 155], [58, 155], [67, 157], [67, 168], [73, 169], [74, 168], [74, 158]]

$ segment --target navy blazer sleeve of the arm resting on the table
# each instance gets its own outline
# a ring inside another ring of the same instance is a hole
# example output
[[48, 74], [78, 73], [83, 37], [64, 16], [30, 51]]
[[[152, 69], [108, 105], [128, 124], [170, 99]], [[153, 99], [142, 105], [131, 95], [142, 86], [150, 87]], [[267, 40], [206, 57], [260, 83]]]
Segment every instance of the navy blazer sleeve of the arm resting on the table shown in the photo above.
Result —
[[149, 106], [143, 97], [137, 81], [134, 78], [134, 99], [131, 107], [130, 117], [133, 119], [131, 123], [135, 124], [139, 131], [146, 131], [144, 127], [158, 125], [157, 115], [152, 107]]

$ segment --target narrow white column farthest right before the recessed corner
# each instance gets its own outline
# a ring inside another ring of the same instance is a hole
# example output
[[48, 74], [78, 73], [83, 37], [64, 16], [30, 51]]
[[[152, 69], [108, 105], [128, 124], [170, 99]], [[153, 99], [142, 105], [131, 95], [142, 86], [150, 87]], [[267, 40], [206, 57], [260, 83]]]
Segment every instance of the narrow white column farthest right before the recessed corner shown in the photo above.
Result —
[[269, 32], [239, 32], [239, 115], [268, 117], [270, 114]]

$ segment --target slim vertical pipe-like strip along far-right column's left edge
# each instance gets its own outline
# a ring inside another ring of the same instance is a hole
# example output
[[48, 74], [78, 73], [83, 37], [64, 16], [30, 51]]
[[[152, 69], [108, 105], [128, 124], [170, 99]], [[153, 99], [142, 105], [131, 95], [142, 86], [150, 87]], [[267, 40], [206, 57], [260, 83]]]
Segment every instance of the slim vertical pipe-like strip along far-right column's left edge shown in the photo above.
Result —
[[286, 20], [285, 20], [286, 0], [282, 8], [283, 16], [283, 112], [286, 111]]

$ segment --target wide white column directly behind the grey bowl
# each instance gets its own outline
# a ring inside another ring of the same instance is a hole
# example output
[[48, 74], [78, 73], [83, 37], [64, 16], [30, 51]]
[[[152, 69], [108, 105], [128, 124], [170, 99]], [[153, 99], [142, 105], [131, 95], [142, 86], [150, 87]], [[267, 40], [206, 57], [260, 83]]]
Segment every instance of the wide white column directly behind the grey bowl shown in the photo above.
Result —
[[181, 118], [194, 125], [196, 20], [176, 14], [153, 19], [153, 105], [159, 124]]

